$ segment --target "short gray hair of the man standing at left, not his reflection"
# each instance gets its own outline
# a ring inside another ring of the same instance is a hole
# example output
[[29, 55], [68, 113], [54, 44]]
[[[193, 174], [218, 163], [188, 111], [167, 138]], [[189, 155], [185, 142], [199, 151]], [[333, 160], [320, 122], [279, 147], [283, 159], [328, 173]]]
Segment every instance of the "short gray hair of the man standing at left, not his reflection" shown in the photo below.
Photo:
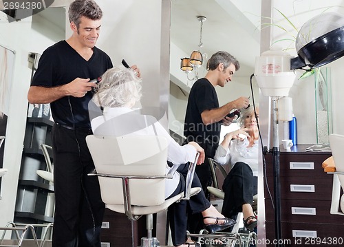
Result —
[[75, 0], [69, 5], [68, 17], [69, 22], [74, 22], [76, 28], [79, 28], [81, 17], [93, 21], [100, 20], [103, 17], [103, 11], [94, 0]]

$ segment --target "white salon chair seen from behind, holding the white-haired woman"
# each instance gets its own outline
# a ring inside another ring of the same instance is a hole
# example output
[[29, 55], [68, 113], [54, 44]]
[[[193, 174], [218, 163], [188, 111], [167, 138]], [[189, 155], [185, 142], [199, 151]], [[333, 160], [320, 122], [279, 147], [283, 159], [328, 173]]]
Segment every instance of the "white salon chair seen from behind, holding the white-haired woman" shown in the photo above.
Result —
[[[94, 160], [103, 202], [111, 211], [125, 213], [130, 220], [147, 215], [147, 237], [142, 247], [159, 246], [152, 237], [153, 214], [174, 202], [189, 200], [201, 191], [186, 184], [186, 192], [164, 199], [165, 180], [172, 178], [178, 166], [166, 174], [168, 142], [162, 136], [87, 136]], [[198, 156], [198, 155], [197, 155]], [[197, 157], [196, 157], [197, 160]], [[187, 181], [192, 180], [195, 162], [190, 164]]]

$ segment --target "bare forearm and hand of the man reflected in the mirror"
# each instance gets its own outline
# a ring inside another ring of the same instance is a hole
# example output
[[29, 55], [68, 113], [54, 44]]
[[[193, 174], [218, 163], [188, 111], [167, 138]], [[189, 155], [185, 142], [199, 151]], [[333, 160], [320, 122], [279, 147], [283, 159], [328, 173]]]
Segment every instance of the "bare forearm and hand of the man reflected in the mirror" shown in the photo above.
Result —
[[204, 125], [211, 125], [214, 122], [221, 121], [233, 109], [248, 107], [248, 105], [249, 99], [247, 97], [237, 98], [222, 107], [203, 111], [201, 114], [202, 122]]

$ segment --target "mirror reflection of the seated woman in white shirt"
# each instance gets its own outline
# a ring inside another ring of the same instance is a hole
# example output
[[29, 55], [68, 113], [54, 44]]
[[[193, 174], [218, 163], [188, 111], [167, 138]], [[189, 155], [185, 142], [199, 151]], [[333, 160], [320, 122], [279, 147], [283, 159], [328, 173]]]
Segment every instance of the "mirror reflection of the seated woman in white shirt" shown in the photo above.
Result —
[[[241, 109], [239, 126], [241, 129], [227, 133], [216, 150], [214, 159], [219, 164], [230, 164], [230, 172], [224, 180], [224, 204], [222, 214], [236, 218], [238, 212], [244, 214], [244, 225], [248, 230], [257, 226], [257, 218], [252, 210], [253, 195], [257, 194], [258, 140], [259, 130], [256, 113], [252, 106]], [[242, 136], [240, 134], [244, 134]]]

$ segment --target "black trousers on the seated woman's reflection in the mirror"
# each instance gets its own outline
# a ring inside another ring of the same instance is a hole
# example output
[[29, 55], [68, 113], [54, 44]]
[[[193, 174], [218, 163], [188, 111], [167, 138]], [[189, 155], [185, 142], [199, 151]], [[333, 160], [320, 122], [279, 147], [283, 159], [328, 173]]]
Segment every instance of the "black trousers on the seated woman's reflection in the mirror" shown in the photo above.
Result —
[[248, 164], [237, 162], [225, 178], [222, 190], [222, 214], [236, 219], [237, 213], [242, 211], [243, 204], [252, 205], [253, 195], [257, 194], [257, 177], [253, 176]]

